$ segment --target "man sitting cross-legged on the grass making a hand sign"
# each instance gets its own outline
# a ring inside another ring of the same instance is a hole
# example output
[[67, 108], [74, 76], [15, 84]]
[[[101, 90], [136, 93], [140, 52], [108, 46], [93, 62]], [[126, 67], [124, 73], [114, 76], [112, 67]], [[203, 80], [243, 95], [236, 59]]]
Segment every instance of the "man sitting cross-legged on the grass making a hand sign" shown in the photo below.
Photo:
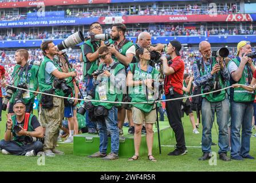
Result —
[[36, 156], [42, 150], [42, 142], [28, 143], [26, 139], [29, 137], [44, 137], [43, 129], [37, 117], [25, 113], [26, 105], [22, 100], [15, 101], [13, 110], [14, 116], [10, 114], [7, 116], [5, 139], [0, 141], [2, 154]]

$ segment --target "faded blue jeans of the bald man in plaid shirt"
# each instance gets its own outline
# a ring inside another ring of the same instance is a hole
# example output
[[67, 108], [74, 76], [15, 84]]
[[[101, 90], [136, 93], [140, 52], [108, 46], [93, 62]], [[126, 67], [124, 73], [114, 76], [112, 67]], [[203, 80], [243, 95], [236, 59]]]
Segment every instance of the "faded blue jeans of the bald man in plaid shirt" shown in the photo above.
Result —
[[202, 101], [202, 151], [211, 152], [211, 130], [214, 123], [214, 114], [216, 112], [217, 124], [219, 126], [219, 154], [227, 153], [229, 150], [229, 136], [227, 133], [227, 124], [229, 122], [229, 100], [220, 102], [209, 102], [206, 98]]

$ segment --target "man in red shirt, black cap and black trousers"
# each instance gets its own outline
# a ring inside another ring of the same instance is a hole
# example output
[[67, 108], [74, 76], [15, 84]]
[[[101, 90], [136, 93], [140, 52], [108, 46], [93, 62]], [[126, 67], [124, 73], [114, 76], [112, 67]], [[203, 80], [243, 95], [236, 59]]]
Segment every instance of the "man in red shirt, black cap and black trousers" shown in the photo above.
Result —
[[[170, 41], [167, 46], [166, 54], [172, 58], [172, 62], [167, 63], [166, 57], [163, 59], [163, 72], [166, 75], [164, 79], [164, 91], [166, 99], [183, 97], [183, 73], [184, 61], [180, 57], [179, 51], [182, 45], [179, 41]], [[169, 156], [179, 156], [187, 154], [184, 129], [182, 125], [182, 100], [166, 102], [166, 112], [171, 128], [174, 130], [176, 139], [176, 149], [170, 152]]]

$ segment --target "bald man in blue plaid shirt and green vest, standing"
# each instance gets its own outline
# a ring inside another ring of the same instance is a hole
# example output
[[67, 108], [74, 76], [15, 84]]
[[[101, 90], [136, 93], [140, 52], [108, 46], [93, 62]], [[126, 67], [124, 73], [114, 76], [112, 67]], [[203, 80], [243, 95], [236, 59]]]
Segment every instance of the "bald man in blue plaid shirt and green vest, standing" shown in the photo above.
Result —
[[[202, 93], [212, 92], [225, 87], [229, 81], [229, 72], [226, 69], [223, 58], [211, 56], [211, 45], [207, 41], [199, 43], [199, 51], [202, 59], [193, 64], [193, 73], [197, 86], [201, 86]], [[198, 63], [199, 66], [198, 66]], [[218, 79], [218, 80], [217, 80]], [[216, 86], [214, 88], [214, 85]], [[219, 159], [230, 161], [227, 157], [229, 150], [229, 136], [227, 124], [229, 122], [229, 100], [226, 91], [211, 93], [202, 96], [202, 152], [203, 156], [199, 160], [208, 160], [211, 156], [211, 129], [214, 123], [216, 112], [217, 124], [219, 126]]]

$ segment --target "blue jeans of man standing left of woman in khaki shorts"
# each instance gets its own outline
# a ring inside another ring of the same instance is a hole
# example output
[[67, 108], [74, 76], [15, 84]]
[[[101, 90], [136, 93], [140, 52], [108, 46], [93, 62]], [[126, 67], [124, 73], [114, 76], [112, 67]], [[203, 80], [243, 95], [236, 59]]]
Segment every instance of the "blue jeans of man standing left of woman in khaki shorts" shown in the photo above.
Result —
[[103, 154], [107, 153], [108, 148], [107, 129], [111, 134], [111, 152], [118, 154], [119, 151], [119, 129], [117, 127], [117, 120], [115, 120], [115, 110], [115, 107], [108, 110], [105, 122], [97, 121], [100, 134], [100, 152]]

